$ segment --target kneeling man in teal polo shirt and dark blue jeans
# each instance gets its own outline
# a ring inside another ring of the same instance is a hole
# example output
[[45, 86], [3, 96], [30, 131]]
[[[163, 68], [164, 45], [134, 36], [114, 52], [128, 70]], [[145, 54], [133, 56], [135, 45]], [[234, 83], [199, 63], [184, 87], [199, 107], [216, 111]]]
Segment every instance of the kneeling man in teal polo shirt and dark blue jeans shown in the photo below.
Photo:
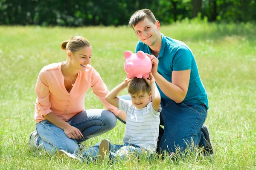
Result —
[[185, 151], [187, 147], [204, 147], [212, 155], [207, 117], [207, 92], [201, 82], [195, 57], [183, 42], [160, 33], [154, 14], [143, 9], [130, 18], [130, 26], [139, 38], [137, 51], [147, 53], [152, 74], [161, 94], [162, 111], [158, 144], [159, 153]]

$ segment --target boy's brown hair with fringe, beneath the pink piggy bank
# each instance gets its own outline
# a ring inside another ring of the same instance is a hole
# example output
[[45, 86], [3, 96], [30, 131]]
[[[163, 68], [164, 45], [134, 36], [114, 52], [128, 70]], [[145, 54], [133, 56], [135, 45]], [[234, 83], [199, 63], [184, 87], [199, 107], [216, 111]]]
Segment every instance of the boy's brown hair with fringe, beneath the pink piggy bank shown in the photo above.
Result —
[[127, 88], [129, 94], [138, 94], [140, 91], [149, 94], [151, 91], [151, 87], [148, 85], [145, 79], [139, 79], [137, 77], [133, 77], [131, 79]]

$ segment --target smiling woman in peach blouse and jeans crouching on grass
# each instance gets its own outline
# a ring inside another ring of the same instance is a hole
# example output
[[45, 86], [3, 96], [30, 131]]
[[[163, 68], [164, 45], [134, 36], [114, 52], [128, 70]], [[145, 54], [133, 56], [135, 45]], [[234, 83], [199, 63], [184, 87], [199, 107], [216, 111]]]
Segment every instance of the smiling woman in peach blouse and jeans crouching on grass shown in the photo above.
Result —
[[[36, 83], [36, 131], [29, 137], [29, 149], [76, 153], [79, 144], [101, 135], [116, 125], [120, 111], [105, 100], [108, 89], [91, 66], [92, 47], [84, 37], [75, 36], [61, 44], [67, 61], [45, 66]], [[92, 87], [105, 108], [84, 111], [84, 97]], [[113, 113], [114, 114], [113, 114]]]

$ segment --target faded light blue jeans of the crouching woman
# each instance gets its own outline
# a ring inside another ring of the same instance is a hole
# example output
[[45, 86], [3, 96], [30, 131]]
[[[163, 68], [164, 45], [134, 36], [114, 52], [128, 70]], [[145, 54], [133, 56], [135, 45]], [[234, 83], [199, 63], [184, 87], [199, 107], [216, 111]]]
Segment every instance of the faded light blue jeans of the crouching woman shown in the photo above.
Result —
[[36, 130], [40, 136], [37, 140], [39, 148], [45, 149], [50, 154], [54, 154], [56, 150], [76, 153], [79, 148], [78, 143], [113, 129], [116, 126], [116, 116], [108, 110], [90, 109], [77, 113], [67, 123], [78, 128], [83, 137], [81, 139], [70, 139], [64, 133], [64, 130], [48, 120], [43, 120], [36, 124]]

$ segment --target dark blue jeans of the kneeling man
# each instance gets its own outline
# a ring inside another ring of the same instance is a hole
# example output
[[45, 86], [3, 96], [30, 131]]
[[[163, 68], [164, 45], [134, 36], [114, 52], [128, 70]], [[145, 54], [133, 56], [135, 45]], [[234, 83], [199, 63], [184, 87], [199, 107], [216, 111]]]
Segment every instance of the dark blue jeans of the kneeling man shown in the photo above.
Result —
[[[130, 95], [119, 98], [131, 100]], [[207, 117], [207, 108], [204, 105], [175, 103], [162, 98], [161, 106], [160, 125], [164, 125], [164, 129], [159, 129], [159, 153], [175, 152], [177, 148], [184, 151], [192, 146], [206, 147], [207, 142], [201, 131]]]

